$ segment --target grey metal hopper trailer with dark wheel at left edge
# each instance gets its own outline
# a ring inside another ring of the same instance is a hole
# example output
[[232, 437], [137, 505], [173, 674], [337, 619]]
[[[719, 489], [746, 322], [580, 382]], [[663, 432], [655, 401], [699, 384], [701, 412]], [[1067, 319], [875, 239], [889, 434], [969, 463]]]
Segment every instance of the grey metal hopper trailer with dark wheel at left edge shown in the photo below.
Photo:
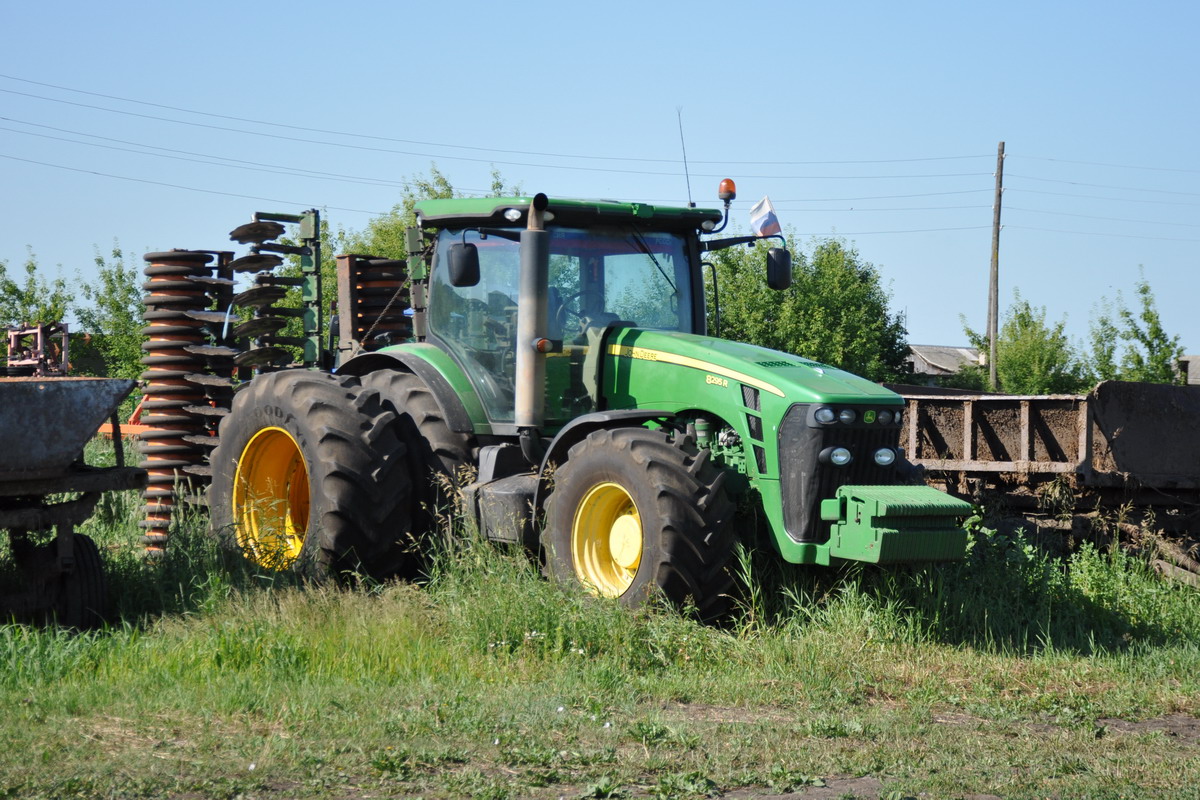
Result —
[[90, 627], [103, 619], [104, 573], [96, 543], [74, 527], [101, 494], [145, 485], [145, 470], [88, 467], [84, 445], [133, 389], [106, 378], [0, 378], [0, 529], [8, 535], [0, 615]]

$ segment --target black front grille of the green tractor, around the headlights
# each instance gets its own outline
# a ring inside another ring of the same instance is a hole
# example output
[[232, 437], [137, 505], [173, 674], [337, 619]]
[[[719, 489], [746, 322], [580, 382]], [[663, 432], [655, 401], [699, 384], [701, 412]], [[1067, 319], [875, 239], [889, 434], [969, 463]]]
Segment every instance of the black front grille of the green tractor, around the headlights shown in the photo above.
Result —
[[[880, 447], [895, 447], [900, 429], [811, 423], [809, 410], [806, 404], [793, 405], [779, 426], [779, 479], [788, 536], [798, 542], [822, 542], [829, 537], [829, 523], [821, 521], [821, 500], [834, 497], [840, 486], [896, 482], [895, 470], [876, 464], [872, 455]], [[827, 447], [846, 447], [853, 461], [845, 467], [822, 464], [820, 455]]]

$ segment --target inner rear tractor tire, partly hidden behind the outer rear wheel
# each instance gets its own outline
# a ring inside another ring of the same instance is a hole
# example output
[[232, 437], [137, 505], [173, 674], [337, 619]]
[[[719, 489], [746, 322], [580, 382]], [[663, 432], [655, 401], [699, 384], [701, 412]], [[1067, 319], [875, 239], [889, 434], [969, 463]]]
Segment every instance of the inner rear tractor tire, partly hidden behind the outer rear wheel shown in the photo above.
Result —
[[382, 369], [362, 377], [384, 408], [396, 415], [396, 432], [408, 447], [413, 481], [413, 519], [418, 537], [454, 509], [463, 468], [474, 464], [475, 437], [450, 429], [428, 385], [410, 372]]

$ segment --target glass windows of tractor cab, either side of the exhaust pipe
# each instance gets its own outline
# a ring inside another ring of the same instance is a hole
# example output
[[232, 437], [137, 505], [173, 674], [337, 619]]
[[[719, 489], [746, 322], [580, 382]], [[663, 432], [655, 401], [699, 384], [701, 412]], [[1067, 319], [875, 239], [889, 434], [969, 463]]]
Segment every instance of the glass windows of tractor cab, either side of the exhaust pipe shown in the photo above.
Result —
[[[439, 234], [430, 282], [430, 333], [468, 372], [491, 420], [511, 422], [521, 265], [520, 243], [512, 239], [520, 229], [487, 230]], [[589, 327], [692, 332], [691, 275], [683, 236], [631, 224], [551, 228], [550, 233], [548, 335], [563, 341], [564, 355], [570, 356], [572, 348], [582, 351]], [[479, 248], [476, 285], [450, 285], [446, 253], [457, 242]], [[547, 387], [547, 421], [575, 414], [552, 389]]]

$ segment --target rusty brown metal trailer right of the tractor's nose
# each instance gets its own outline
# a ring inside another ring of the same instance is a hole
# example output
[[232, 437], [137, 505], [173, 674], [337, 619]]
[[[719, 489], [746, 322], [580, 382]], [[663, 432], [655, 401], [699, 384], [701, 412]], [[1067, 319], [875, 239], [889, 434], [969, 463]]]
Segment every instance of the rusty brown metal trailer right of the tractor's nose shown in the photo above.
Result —
[[[895, 386], [900, 443], [934, 485], [1036, 504], [1057, 482], [1076, 507], [1200, 504], [1200, 386], [1104, 381], [1087, 395], [984, 395]], [[1180, 522], [1184, 522], [1181, 518]]]

